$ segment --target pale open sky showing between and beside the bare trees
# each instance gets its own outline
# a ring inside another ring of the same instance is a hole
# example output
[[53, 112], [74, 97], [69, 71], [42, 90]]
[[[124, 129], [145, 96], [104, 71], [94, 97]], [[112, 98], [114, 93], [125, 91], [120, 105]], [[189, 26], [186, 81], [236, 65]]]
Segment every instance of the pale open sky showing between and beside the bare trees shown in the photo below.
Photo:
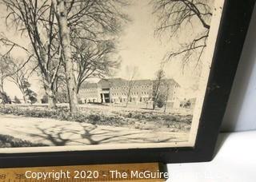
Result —
[[[125, 26], [124, 32], [121, 34], [118, 42], [118, 56], [121, 57], [122, 63], [120, 69], [116, 71], [114, 77], [129, 78], [131, 77], [133, 68], [136, 68], [136, 79], [154, 79], [155, 73], [161, 68], [163, 57], [170, 49], [180, 46], [181, 42], [190, 35], [195, 34], [196, 30], [190, 26], [182, 27], [184, 36], [170, 39], [168, 35], [157, 37], [154, 34], [157, 19], [152, 15], [152, 6], [149, 5], [150, 0], [130, 0], [131, 5], [126, 7], [126, 14], [131, 21]], [[0, 7], [2, 12], [3, 7]], [[4, 25], [4, 17], [0, 19], [1, 25]], [[196, 26], [195, 26], [196, 27]], [[22, 45], [28, 45], [28, 38], [20, 38], [19, 33], [15, 33], [14, 28], [6, 29], [6, 26], [0, 26], [1, 34], [4, 33], [12, 38], [15, 42]], [[4, 49], [0, 47], [0, 51]], [[16, 57], [26, 57], [26, 54], [16, 50]], [[182, 86], [183, 92], [193, 94], [194, 85], [198, 84], [200, 65], [195, 68], [194, 65], [188, 65], [185, 71], [182, 69], [181, 57], [176, 57], [172, 61], [165, 62], [163, 69], [167, 78], [173, 78]], [[192, 60], [193, 61], [193, 60]], [[38, 77], [32, 77], [32, 89], [43, 94], [42, 85], [38, 81]], [[11, 96], [22, 97], [18, 88], [6, 81], [6, 92]]]

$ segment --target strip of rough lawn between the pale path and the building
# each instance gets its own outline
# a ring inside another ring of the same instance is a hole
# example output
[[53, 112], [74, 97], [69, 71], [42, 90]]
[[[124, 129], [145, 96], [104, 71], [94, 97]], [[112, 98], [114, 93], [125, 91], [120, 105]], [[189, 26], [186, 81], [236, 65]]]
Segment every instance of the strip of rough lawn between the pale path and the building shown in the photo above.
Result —
[[110, 125], [134, 129], [187, 132], [190, 130], [190, 113], [162, 113], [149, 109], [131, 109], [109, 105], [81, 105], [80, 112], [71, 114], [66, 105], [47, 109], [46, 105], [6, 105], [0, 113], [15, 116], [54, 118], [92, 125]]

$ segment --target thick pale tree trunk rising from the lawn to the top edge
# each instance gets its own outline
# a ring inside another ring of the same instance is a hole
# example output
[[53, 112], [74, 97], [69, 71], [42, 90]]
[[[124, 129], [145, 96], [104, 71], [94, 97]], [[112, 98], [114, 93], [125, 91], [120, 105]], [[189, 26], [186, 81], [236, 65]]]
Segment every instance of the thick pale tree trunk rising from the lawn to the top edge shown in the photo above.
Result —
[[52, 0], [58, 20], [59, 38], [62, 45], [62, 56], [65, 63], [66, 85], [69, 94], [70, 112], [78, 111], [78, 98], [74, 81], [73, 61], [70, 49], [70, 29], [67, 25], [66, 5], [64, 0]]

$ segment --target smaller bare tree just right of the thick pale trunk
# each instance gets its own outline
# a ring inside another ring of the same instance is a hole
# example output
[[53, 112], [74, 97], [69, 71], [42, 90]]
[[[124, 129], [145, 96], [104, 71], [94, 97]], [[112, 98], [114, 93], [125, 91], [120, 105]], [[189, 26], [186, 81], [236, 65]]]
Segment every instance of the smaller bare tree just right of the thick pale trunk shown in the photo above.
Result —
[[112, 57], [115, 53], [114, 42], [91, 44], [94, 43], [83, 41], [81, 45], [73, 45], [77, 93], [86, 79], [110, 77], [120, 65], [120, 62]]

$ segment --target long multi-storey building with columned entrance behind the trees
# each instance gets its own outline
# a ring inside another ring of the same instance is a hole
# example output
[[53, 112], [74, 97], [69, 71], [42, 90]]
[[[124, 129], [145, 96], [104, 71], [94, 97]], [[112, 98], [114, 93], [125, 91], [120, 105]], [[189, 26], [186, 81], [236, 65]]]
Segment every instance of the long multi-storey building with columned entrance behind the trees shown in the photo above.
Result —
[[168, 105], [173, 107], [179, 85], [173, 79], [162, 81], [134, 80], [122, 78], [102, 79], [98, 83], [85, 82], [79, 92], [81, 103], [148, 103], [152, 101], [154, 90], [166, 97]]

